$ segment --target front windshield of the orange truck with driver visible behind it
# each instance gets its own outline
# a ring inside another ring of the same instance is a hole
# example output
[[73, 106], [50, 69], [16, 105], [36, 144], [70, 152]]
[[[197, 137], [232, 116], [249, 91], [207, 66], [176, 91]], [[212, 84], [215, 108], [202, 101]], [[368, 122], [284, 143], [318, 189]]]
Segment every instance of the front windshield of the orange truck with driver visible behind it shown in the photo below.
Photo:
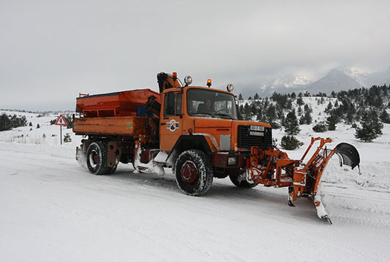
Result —
[[215, 90], [187, 90], [187, 113], [190, 116], [237, 119], [234, 96]]

